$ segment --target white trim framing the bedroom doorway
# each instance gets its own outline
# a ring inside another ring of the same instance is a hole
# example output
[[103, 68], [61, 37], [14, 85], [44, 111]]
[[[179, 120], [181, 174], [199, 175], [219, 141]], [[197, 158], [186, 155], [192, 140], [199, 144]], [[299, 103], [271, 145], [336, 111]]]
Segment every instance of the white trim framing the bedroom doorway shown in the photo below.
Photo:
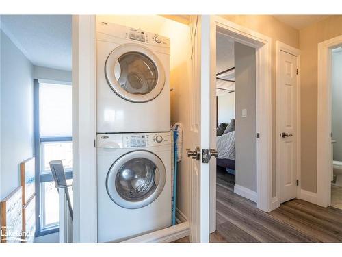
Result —
[[[237, 25], [220, 16], [212, 16], [211, 30], [220, 32], [237, 42], [248, 45], [256, 49], [257, 62], [257, 132], [260, 138], [257, 140], [257, 208], [269, 212], [272, 210], [272, 40], [251, 29]], [[216, 45], [214, 37], [212, 44]], [[211, 53], [212, 65], [215, 67], [215, 51]], [[211, 88], [215, 88], [215, 80], [211, 81]], [[215, 104], [215, 99], [211, 100], [211, 105]], [[211, 108], [211, 116], [215, 117], [215, 110]], [[211, 123], [211, 147], [215, 147], [215, 123]], [[257, 135], [256, 135], [257, 136]], [[215, 169], [216, 163], [211, 158], [211, 197], [210, 197], [210, 228], [215, 230], [215, 201], [216, 184]]]

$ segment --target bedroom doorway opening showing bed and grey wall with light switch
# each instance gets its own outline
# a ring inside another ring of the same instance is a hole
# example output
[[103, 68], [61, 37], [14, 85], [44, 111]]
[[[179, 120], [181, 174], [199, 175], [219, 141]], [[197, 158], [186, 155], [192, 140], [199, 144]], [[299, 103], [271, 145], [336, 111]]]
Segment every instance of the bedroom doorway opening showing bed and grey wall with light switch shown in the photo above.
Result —
[[255, 49], [216, 38], [217, 184], [257, 202]]

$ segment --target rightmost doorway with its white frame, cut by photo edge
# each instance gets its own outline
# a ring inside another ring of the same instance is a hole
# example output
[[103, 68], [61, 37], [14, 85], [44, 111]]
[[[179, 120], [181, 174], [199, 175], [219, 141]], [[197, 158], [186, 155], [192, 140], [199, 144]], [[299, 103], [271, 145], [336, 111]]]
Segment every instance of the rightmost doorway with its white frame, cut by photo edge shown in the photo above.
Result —
[[341, 124], [338, 115], [334, 115], [339, 108], [336, 103], [341, 101], [338, 99], [341, 75], [334, 71], [341, 70], [341, 47], [342, 36], [318, 44], [317, 204], [324, 207], [332, 206], [332, 195], [334, 205], [339, 206], [342, 200], [338, 196], [341, 171], [338, 131]]

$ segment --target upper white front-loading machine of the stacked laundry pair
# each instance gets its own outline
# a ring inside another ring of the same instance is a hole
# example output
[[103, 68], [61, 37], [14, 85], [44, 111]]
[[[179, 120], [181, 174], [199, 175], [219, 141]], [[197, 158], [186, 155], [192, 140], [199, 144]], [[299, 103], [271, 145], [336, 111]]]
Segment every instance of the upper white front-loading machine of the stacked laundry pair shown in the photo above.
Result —
[[98, 23], [97, 132], [170, 131], [170, 40]]

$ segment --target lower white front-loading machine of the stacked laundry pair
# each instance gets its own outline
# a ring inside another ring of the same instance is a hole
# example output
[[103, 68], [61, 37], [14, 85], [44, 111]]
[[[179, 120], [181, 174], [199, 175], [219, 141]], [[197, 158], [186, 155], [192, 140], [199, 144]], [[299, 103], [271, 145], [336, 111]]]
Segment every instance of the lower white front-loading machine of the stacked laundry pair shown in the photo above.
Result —
[[98, 242], [171, 225], [170, 132], [98, 134]]

